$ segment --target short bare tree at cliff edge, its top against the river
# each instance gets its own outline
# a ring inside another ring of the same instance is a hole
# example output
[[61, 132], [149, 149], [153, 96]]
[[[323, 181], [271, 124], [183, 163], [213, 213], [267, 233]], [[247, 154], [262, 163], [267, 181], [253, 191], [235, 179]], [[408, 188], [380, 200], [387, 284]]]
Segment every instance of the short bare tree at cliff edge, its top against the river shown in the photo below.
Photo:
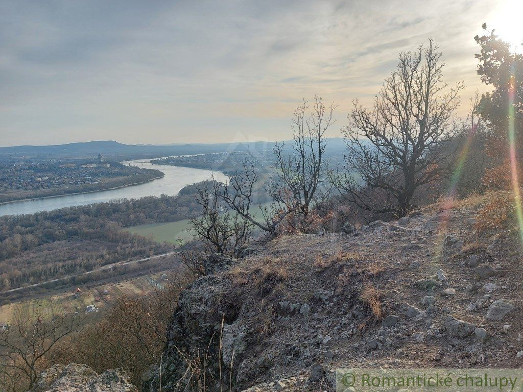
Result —
[[202, 207], [202, 214], [189, 220], [195, 239], [210, 252], [234, 256], [251, 238], [252, 222], [223, 203], [223, 184], [212, 179], [195, 186], [196, 201]]

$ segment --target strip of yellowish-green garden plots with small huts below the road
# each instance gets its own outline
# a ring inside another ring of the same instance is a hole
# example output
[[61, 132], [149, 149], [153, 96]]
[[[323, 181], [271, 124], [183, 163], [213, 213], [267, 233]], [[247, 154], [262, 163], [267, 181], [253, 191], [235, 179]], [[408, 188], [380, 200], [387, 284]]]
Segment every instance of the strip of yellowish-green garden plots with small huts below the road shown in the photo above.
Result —
[[81, 314], [88, 305], [93, 304], [103, 310], [122, 295], [147, 295], [154, 289], [163, 289], [165, 280], [162, 274], [163, 272], [157, 272], [94, 287], [80, 286], [82, 293], [77, 298], [74, 296], [76, 287], [72, 287], [64, 293], [7, 304], [0, 307], [0, 325], [12, 324], [20, 318], [36, 314], [44, 319], [73, 313]]

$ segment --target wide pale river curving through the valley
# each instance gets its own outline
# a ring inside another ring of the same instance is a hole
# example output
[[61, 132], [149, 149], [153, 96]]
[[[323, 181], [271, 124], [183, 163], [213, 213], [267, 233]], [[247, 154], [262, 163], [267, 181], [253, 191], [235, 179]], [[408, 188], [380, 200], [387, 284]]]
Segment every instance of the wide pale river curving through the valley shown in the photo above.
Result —
[[[148, 159], [130, 160], [122, 162], [122, 164], [130, 164], [131, 166], [138, 166], [146, 169], [158, 169], [165, 173], [165, 177], [145, 182], [140, 185], [132, 185], [119, 189], [0, 204], [0, 216], [32, 214], [39, 211], [57, 210], [62, 207], [70, 207], [73, 205], [102, 203], [119, 199], [138, 199], [144, 196], [160, 196], [162, 193], [173, 195], [178, 193], [178, 191], [186, 185], [207, 180], [211, 178], [212, 175], [210, 170], [153, 165]], [[221, 172], [214, 172], [214, 178], [217, 181], [225, 182], [225, 175]]]

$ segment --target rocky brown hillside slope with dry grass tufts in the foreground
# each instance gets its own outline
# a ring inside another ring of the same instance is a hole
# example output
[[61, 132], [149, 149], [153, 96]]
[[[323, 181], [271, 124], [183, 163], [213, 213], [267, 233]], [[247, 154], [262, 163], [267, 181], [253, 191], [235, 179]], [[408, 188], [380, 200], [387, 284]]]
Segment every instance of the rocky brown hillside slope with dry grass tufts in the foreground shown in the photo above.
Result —
[[150, 390], [320, 390], [337, 367], [521, 367], [518, 228], [476, 233], [487, 201], [225, 260], [181, 295]]

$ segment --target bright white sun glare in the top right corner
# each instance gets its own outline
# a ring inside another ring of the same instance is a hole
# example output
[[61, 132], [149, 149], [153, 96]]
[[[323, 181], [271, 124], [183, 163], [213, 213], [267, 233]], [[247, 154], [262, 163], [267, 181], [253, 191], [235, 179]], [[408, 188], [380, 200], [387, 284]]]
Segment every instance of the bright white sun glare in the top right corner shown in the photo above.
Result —
[[495, 29], [499, 37], [513, 49], [523, 51], [523, 0], [505, 0], [501, 3], [487, 28]]

